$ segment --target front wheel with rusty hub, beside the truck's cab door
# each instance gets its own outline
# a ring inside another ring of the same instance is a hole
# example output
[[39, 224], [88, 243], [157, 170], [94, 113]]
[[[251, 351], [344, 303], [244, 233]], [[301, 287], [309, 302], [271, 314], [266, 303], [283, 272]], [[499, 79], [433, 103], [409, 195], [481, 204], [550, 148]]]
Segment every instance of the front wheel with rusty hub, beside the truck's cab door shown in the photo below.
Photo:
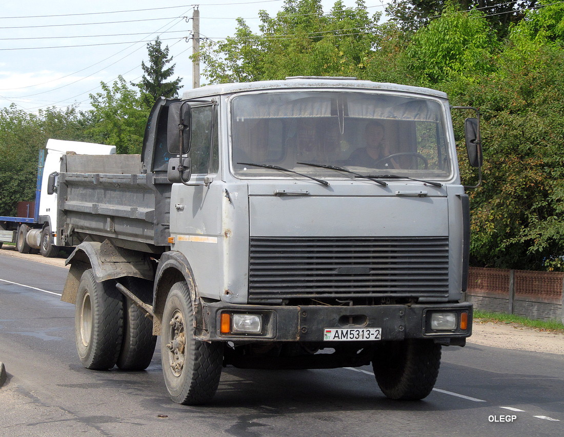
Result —
[[186, 282], [174, 284], [162, 315], [162, 373], [170, 398], [200, 405], [213, 398], [223, 364], [223, 344], [194, 339], [194, 315]]

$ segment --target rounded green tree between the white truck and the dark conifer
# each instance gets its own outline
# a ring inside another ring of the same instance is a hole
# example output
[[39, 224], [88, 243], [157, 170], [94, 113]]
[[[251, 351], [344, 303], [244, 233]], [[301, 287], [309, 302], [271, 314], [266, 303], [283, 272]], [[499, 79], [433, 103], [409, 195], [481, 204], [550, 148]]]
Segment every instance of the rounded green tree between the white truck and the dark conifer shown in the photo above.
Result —
[[150, 109], [121, 76], [111, 86], [101, 85], [103, 92], [90, 95], [94, 109], [86, 114], [87, 134], [96, 143], [115, 145], [116, 153], [141, 153]]

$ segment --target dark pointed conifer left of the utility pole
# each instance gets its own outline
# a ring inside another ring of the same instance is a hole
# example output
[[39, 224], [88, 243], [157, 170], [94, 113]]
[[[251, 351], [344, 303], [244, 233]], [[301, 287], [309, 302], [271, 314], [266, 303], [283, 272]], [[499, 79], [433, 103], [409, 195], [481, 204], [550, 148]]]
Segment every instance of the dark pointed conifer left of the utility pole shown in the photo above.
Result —
[[156, 99], [163, 96], [167, 98], [178, 97], [178, 90], [182, 88], [180, 82], [181, 77], [177, 77], [173, 81], [166, 80], [173, 76], [175, 65], [168, 68], [165, 66], [173, 60], [173, 56], [169, 57], [169, 46], [161, 47], [161, 40], [155, 39], [155, 42], [147, 44], [149, 54], [149, 65], [141, 62], [141, 67], [145, 74], [139, 83], [133, 83], [139, 88], [142, 94], [143, 103], [151, 108]]

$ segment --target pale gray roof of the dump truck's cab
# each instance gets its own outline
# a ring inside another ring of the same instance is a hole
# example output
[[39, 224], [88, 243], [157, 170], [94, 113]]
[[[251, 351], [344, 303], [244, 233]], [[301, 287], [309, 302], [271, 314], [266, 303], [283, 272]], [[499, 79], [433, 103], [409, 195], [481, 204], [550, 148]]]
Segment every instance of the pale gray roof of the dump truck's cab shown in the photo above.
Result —
[[241, 91], [259, 91], [276, 89], [299, 89], [299, 88], [342, 88], [342, 89], [364, 89], [382, 91], [403, 91], [416, 94], [424, 94], [446, 99], [446, 93], [432, 90], [430, 88], [398, 85], [397, 83], [359, 81], [354, 77], [324, 77], [324, 76], [295, 76], [287, 77], [285, 80], [259, 81], [244, 83], [219, 83], [218, 85], [206, 85], [197, 89], [185, 91], [183, 99], [193, 99], [204, 96], [231, 94]]

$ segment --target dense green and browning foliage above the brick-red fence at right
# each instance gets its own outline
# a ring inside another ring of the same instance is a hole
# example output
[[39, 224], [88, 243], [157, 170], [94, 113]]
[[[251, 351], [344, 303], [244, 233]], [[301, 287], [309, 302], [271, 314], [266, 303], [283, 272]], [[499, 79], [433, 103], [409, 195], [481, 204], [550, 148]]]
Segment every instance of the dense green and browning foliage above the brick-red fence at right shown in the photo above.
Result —
[[483, 117], [484, 183], [470, 193], [473, 264], [564, 270], [564, 53], [508, 45], [496, 67], [453, 96]]

